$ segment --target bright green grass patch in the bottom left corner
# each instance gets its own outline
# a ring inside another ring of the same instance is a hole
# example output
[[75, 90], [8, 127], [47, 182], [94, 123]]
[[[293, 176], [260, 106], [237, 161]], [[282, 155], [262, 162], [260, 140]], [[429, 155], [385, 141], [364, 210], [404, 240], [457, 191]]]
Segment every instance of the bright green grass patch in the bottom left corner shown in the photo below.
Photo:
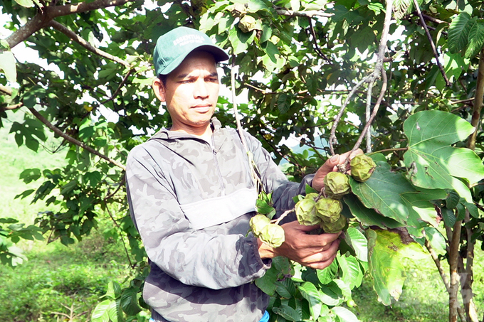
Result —
[[71, 247], [36, 242], [26, 255], [18, 267], [0, 266], [0, 321], [89, 321], [107, 283], [129, 272], [120, 245], [99, 232]]

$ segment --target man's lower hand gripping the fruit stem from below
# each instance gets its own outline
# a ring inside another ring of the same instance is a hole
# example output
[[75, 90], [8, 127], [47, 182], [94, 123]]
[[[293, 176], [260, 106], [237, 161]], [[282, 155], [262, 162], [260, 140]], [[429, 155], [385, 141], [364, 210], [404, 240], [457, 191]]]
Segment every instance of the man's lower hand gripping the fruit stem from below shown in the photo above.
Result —
[[288, 222], [282, 227], [285, 242], [280, 247], [273, 248], [258, 240], [261, 258], [284, 256], [314, 269], [324, 269], [335, 259], [340, 246], [340, 234], [307, 235], [306, 232], [319, 226], [304, 226], [297, 221]]

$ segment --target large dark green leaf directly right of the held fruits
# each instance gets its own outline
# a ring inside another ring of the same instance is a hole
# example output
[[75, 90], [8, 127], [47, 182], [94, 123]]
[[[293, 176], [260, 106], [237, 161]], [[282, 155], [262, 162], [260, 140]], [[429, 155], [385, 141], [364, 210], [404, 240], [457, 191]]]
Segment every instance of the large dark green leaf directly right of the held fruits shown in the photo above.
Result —
[[417, 191], [401, 173], [392, 172], [389, 164], [383, 161], [377, 162], [369, 180], [359, 183], [350, 178], [349, 183], [365, 207], [412, 227], [420, 227], [420, 220], [432, 219], [428, 214], [428, 209], [433, 209], [429, 200], [446, 197], [441, 190]]

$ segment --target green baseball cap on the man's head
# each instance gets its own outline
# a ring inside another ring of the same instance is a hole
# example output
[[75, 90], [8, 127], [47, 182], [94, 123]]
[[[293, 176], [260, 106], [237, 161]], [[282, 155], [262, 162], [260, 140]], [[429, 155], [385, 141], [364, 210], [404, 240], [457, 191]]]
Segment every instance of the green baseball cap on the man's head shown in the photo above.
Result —
[[193, 50], [211, 53], [217, 63], [228, 60], [227, 53], [214, 45], [205, 33], [193, 28], [178, 27], [158, 38], [153, 53], [155, 72], [157, 75], [172, 73]]

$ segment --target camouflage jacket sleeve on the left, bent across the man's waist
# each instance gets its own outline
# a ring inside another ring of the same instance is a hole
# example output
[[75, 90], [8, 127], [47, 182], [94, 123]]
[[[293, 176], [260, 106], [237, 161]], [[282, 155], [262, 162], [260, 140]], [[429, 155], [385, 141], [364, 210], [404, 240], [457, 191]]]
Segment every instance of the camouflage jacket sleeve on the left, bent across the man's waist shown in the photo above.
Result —
[[253, 235], [192, 229], [169, 181], [142, 146], [130, 152], [126, 168], [132, 219], [149, 259], [169, 276], [187, 285], [224, 289], [247, 284], [270, 268]]

